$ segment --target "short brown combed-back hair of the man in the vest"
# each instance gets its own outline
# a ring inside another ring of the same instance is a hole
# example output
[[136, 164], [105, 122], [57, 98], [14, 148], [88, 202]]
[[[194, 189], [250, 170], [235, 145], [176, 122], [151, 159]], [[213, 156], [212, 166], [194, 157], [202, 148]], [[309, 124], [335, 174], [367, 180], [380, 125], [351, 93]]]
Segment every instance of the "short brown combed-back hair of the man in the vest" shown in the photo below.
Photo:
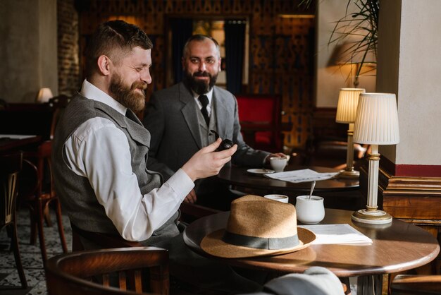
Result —
[[124, 20], [110, 20], [99, 25], [85, 50], [87, 77], [97, 68], [99, 56], [106, 55], [114, 63], [118, 63], [121, 57], [129, 54], [137, 46], [152, 49], [153, 43], [136, 25]]

